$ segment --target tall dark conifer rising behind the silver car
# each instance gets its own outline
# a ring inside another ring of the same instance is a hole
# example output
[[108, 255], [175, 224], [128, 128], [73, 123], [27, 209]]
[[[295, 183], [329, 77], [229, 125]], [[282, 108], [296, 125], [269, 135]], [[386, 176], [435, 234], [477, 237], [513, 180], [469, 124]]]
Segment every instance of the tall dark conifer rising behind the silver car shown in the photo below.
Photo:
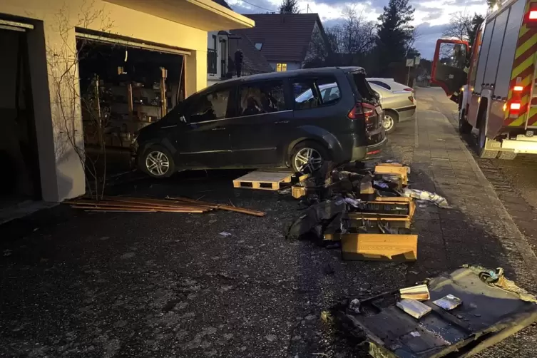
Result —
[[385, 71], [392, 62], [404, 61], [414, 33], [414, 26], [410, 25], [412, 20], [414, 8], [409, 5], [409, 0], [389, 0], [384, 6], [377, 25], [377, 71]]

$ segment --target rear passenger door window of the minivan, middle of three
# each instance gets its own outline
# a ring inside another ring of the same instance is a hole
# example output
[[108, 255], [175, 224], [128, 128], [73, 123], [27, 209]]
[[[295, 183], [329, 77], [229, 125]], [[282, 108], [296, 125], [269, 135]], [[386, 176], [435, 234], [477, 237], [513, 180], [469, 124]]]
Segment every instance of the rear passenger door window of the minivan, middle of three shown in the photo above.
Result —
[[238, 116], [254, 116], [284, 110], [283, 81], [248, 83], [240, 86]]

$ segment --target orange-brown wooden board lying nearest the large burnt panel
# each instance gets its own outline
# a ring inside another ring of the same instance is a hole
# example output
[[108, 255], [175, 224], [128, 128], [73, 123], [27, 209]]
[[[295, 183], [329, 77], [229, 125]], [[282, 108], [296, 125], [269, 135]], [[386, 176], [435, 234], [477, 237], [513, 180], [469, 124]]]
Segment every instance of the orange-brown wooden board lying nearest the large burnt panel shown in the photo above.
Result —
[[344, 260], [415, 261], [418, 235], [342, 234]]

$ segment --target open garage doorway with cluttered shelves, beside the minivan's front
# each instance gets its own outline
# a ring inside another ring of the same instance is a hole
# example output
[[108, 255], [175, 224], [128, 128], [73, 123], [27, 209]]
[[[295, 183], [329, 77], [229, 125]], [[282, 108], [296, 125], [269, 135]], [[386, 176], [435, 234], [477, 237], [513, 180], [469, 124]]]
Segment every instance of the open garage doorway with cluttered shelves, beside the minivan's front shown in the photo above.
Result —
[[87, 34], [76, 42], [86, 155], [106, 175], [131, 170], [135, 133], [185, 98], [185, 54]]

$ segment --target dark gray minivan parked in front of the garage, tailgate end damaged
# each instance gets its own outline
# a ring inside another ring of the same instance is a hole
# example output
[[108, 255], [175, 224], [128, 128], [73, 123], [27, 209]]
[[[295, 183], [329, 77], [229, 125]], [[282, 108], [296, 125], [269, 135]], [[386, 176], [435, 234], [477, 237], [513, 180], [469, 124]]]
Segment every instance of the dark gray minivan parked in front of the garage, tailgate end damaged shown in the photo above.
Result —
[[[363, 68], [263, 73], [217, 83], [140, 130], [137, 163], [155, 178], [178, 170], [292, 168], [378, 158], [384, 114]], [[330, 91], [319, 87], [336, 83]], [[304, 99], [303, 98], [307, 98]]]

